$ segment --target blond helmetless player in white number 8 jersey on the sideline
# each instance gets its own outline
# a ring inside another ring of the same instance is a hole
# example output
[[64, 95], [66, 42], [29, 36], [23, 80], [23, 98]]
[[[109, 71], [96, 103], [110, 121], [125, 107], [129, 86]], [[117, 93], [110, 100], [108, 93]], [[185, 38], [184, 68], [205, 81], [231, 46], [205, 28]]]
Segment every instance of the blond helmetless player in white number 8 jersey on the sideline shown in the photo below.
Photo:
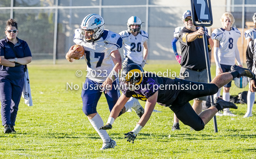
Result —
[[[241, 37], [241, 32], [232, 27], [235, 22], [233, 15], [229, 12], [223, 13], [221, 17], [221, 23], [223, 28], [215, 29], [212, 32], [212, 39], [214, 39], [214, 59], [216, 63], [216, 75], [230, 71], [232, 65], [235, 64], [235, 58], [237, 59], [238, 66], [242, 67], [240, 61], [240, 55], [237, 48], [237, 40]], [[223, 87], [223, 100], [229, 101], [229, 89], [231, 87], [231, 81]], [[214, 97], [219, 97], [221, 89]], [[223, 112], [226, 116], [236, 116], [228, 109]], [[218, 113], [217, 115], [222, 115]]]

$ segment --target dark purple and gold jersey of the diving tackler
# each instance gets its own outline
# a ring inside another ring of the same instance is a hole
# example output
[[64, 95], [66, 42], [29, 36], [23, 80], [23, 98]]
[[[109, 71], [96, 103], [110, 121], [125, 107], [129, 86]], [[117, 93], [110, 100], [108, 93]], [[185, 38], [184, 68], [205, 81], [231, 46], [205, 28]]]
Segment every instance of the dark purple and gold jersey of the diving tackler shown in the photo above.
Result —
[[[121, 85], [123, 84], [121, 83]], [[159, 77], [156, 74], [144, 72], [142, 84], [139, 85], [138, 89], [134, 91], [121, 90], [125, 97], [133, 97], [142, 101], [147, 101], [158, 91], [157, 103], [162, 106], [170, 106], [180, 92], [176, 89], [178, 85], [180, 84], [176, 79]]]

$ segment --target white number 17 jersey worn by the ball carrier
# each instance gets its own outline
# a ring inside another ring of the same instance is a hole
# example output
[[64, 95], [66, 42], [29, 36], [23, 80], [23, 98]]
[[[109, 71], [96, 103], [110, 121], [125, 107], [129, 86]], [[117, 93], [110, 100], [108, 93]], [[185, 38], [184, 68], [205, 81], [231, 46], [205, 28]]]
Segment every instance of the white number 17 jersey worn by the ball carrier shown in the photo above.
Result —
[[111, 52], [122, 47], [122, 38], [110, 30], [104, 30], [100, 39], [94, 42], [83, 42], [80, 29], [75, 30], [73, 41], [82, 45], [87, 62], [87, 78], [103, 83], [114, 67]]

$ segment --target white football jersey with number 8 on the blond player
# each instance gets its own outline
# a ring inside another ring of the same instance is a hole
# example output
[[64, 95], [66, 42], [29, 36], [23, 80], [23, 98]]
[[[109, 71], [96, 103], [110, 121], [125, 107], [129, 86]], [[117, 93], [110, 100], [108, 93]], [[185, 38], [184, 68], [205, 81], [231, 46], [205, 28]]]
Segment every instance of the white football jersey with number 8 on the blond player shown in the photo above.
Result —
[[234, 65], [236, 58], [237, 40], [241, 37], [241, 32], [231, 27], [230, 31], [218, 28], [212, 31], [211, 38], [219, 41], [218, 58], [222, 65]]

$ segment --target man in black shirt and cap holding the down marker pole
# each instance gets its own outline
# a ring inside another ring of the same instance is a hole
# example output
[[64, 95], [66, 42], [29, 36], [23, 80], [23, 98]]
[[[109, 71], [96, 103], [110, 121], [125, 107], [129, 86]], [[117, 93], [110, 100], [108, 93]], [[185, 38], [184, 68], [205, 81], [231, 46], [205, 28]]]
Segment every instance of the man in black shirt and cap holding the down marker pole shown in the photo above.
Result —
[[[196, 27], [192, 23], [191, 11], [185, 11], [182, 15], [185, 27], [180, 31], [179, 41], [181, 47], [181, 69], [180, 79], [193, 82], [208, 82], [206, 60], [204, 54], [202, 27]], [[208, 53], [211, 61], [211, 45], [207, 38]], [[193, 109], [197, 114], [202, 112], [202, 101], [207, 101], [207, 97], [194, 99]], [[175, 120], [175, 119], [174, 119]], [[178, 123], [174, 123], [173, 126]]]

